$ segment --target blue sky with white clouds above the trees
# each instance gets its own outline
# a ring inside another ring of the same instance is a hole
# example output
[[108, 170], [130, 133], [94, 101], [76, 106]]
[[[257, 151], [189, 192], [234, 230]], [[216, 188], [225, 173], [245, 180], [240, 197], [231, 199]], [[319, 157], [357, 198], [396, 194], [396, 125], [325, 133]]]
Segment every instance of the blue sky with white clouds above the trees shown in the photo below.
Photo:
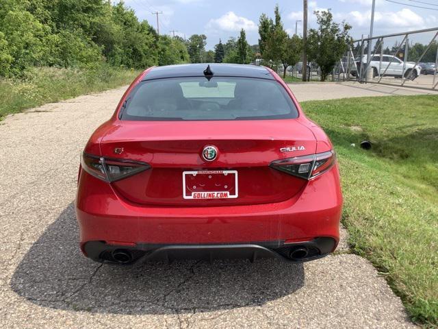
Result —
[[[231, 36], [237, 37], [242, 28], [250, 45], [257, 44], [259, 17], [262, 13], [274, 16], [276, 3], [286, 31], [294, 34], [296, 21], [302, 21], [302, 0], [125, 0], [140, 20], [145, 19], [155, 29], [157, 21], [152, 12], [162, 12], [160, 34], [172, 34], [172, 30], [185, 38], [205, 34], [207, 49], [213, 49], [219, 39], [226, 42]], [[316, 27], [313, 11], [331, 9], [335, 21], [352, 25], [353, 38], [370, 32], [372, 0], [309, 0], [308, 6], [309, 28]], [[376, 0], [374, 36], [430, 27], [438, 27], [438, 0]], [[302, 22], [298, 22], [297, 32], [302, 34]], [[428, 43], [431, 36], [417, 39]]]

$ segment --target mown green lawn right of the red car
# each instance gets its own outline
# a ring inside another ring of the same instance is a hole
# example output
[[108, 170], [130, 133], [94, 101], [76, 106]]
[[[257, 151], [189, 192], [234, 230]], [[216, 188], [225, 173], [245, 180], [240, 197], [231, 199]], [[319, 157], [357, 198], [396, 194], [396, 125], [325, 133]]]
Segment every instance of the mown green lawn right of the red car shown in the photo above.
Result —
[[[438, 96], [302, 107], [335, 144], [353, 251], [379, 269], [414, 321], [438, 326]], [[372, 149], [361, 149], [363, 140]]]

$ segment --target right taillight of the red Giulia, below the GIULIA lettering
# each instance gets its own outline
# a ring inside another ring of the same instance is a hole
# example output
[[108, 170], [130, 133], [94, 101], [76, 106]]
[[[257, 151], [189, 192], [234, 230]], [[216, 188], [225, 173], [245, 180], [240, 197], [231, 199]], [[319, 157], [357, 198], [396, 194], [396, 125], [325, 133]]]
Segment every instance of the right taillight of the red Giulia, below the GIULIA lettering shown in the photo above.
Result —
[[296, 156], [271, 162], [270, 167], [290, 175], [311, 180], [329, 170], [335, 164], [335, 151]]

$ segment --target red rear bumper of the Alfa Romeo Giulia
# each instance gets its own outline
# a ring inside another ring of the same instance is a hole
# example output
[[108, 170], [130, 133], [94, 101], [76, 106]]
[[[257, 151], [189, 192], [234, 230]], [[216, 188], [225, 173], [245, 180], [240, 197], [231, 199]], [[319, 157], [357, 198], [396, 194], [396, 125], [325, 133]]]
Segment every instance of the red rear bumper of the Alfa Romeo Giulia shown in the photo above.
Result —
[[[232, 244], [237, 246], [233, 253], [244, 244], [244, 254], [248, 245], [266, 248], [263, 243], [251, 241], [287, 245], [328, 237], [334, 241], [331, 251], [339, 241], [342, 193], [337, 166], [309, 181], [297, 195], [285, 202], [250, 206], [142, 206], [127, 202], [110, 184], [84, 171], [79, 180], [76, 215], [81, 249], [93, 259], [96, 259], [95, 254], [88, 254], [90, 249], [86, 247], [91, 241], [142, 251], [149, 250], [144, 249], [147, 245], [205, 247]], [[163, 252], [170, 249], [174, 252], [175, 247], [166, 247]], [[189, 247], [179, 249], [190, 254]], [[211, 247], [207, 249], [210, 251]], [[222, 251], [223, 248], [219, 249]], [[261, 254], [266, 254], [266, 250]]]

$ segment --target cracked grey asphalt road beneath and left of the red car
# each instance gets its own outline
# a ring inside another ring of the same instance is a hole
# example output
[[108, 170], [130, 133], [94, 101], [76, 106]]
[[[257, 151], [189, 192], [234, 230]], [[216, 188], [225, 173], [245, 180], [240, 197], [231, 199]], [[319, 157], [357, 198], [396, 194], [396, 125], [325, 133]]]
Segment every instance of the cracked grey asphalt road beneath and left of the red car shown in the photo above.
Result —
[[376, 269], [348, 253], [345, 231], [341, 252], [305, 264], [124, 267], [83, 257], [73, 206], [79, 156], [125, 88], [0, 121], [0, 328], [415, 327]]

